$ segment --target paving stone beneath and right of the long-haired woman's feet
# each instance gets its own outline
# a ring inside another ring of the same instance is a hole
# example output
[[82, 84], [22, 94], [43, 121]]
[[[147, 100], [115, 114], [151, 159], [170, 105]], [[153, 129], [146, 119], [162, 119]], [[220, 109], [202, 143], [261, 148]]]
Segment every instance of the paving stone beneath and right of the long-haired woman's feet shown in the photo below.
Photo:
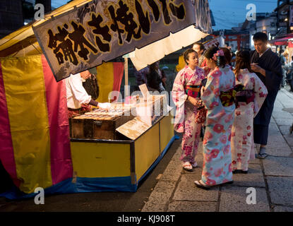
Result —
[[265, 188], [261, 165], [249, 165], [249, 172], [247, 174], [233, 174], [233, 181], [233, 185], [237, 186], [258, 186]]

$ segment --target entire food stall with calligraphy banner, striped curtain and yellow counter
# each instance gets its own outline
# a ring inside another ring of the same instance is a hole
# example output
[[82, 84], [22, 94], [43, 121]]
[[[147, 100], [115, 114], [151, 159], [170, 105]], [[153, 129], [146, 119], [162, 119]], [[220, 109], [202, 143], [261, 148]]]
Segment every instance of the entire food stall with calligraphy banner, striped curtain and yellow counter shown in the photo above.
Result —
[[[93, 110], [68, 121], [63, 80], [158, 40], [161, 47], [169, 45], [145, 62], [137, 52], [131, 60], [139, 61], [140, 69], [177, 50], [171, 48], [176, 45], [170, 32], [178, 42], [179, 33], [189, 31], [178, 48], [208, 35], [210, 18], [202, 20], [209, 12], [207, 0], [168, 1], [171, 21], [160, 14], [160, 1], [154, 2], [159, 14], [144, 0], [74, 0], [0, 40], [0, 159], [14, 184], [0, 196], [33, 197], [38, 187], [45, 194], [136, 191], [162, 159], [175, 139], [167, 97], [135, 97], [129, 104], [112, 103], [108, 112]], [[115, 19], [116, 32], [112, 26], [113, 10], [125, 5], [140, 24], [130, 40], [123, 21]], [[98, 28], [110, 32], [111, 39]], [[145, 49], [148, 56], [150, 49]]]

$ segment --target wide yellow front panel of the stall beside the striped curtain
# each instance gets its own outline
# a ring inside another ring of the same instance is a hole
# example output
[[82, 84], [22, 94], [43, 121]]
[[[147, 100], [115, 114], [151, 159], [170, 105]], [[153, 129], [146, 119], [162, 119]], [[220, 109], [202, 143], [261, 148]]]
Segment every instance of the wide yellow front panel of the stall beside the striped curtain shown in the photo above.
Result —
[[71, 142], [77, 177], [129, 177], [130, 144]]

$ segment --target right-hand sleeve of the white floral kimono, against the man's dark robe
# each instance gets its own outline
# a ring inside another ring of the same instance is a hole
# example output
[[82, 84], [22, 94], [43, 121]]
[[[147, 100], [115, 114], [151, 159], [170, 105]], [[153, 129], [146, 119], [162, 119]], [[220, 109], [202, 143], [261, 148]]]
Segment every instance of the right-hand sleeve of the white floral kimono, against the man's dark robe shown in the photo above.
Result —
[[253, 83], [253, 91], [254, 91], [254, 116], [258, 114], [263, 102], [265, 101], [265, 97], [268, 95], [268, 90], [265, 87], [265, 84], [261, 81], [255, 73], [251, 73], [251, 82]]

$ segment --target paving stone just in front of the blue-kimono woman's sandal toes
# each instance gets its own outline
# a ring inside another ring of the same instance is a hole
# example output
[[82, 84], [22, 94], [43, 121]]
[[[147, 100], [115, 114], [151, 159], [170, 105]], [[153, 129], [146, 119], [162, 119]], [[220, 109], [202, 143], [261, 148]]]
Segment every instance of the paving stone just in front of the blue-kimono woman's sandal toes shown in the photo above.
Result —
[[181, 174], [173, 199], [176, 201], [217, 201], [219, 187], [208, 191], [199, 189], [194, 181], [201, 179], [201, 169], [197, 168], [194, 174]]

